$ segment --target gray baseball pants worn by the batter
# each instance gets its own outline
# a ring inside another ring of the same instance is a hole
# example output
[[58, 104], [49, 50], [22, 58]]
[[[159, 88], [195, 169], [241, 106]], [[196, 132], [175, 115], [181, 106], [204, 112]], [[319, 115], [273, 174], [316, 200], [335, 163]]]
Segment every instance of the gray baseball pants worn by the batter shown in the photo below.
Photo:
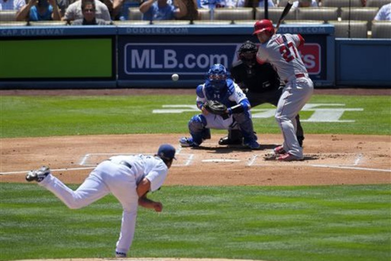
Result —
[[304, 107], [314, 91], [314, 84], [308, 77], [301, 77], [286, 83], [277, 105], [275, 118], [280, 125], [284, 150], [303, 158], [303, 148], [296, 137], [296, 116]]

